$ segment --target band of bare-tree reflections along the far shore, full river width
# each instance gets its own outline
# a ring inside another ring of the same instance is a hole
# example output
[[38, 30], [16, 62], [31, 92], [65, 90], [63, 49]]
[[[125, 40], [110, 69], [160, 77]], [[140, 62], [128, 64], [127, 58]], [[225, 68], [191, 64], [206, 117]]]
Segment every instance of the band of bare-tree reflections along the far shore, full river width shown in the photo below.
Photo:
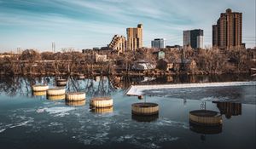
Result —
[[[96, 76], [79, 80], [78, 77], [0, 77], [0, 92], [6, 95], [30, 96], [32, 84], [47, 83], [57, 86], [57, 80], [66, 80], [67, 92], [85, 91], [89, 95], [111, 95], [116, 89], [128, 89], [131, 84], [155, 83], [208, 83], [227, 81], [249, 81], [249, 75], [220, 76], [172, 76], [172, 77], [106, 77]], [[224, 91], [224, 90], [223, 90]], [[224, 94], [226, 94], [224, 92]], [[239, 96], [239, 95], [237, 95]]]

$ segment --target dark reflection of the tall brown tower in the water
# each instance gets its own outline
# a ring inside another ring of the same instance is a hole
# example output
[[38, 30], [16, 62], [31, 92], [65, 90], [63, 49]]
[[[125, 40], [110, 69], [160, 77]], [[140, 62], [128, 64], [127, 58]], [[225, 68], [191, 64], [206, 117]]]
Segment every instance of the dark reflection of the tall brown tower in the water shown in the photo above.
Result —
[[241, 115], [241, 102], [212, 101], [212, 103], [217, 104], [219, 112], [228, 119], [231, 116]]

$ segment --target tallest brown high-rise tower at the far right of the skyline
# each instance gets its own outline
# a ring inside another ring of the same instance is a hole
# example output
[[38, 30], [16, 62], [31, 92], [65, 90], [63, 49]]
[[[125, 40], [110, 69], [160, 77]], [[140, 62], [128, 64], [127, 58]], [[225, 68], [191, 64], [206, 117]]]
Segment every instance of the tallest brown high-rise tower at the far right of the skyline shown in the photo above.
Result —
[[242, 47], [242, 14], [226, 9], [220, 14], [217, 25], [212, 26], [212, 46], [219, 49]]

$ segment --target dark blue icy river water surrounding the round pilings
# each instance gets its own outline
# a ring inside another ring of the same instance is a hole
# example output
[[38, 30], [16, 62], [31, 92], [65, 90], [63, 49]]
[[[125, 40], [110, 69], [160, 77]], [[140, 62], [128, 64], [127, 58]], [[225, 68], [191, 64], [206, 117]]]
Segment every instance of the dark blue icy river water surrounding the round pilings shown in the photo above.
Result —
[[[114, 80], [114, 81], [113, 81]], [[0, 78], [0, 147], [16, 148], [255, 148], [256, 86], [153, 89], [145, 100], [127, 96], [131, 84], [253, 81], [249, 76], [68, 78], [67, 91], [84, 91], [84, 106], [48, 100], [31, 84], [55, 85], [55, 77]], [[95, 96], [111, 96], [113, 108], [92, 111]], [[136, 117], [131, 104], [159, 104], [154, 117]], [[219, 102], [220, 101], [220, 102]], [[222, 113], [219, 127], [194, 126], [189, 112]]]

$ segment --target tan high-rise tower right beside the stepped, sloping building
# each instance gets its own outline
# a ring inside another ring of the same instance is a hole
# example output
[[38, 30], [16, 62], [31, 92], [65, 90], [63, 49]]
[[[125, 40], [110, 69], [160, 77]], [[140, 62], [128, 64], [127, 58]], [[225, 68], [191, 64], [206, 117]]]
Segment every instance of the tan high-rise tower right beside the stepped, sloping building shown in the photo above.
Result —
[[143, 47], [143, 25], [138, 24], [137, 28], [127, 28], [127, 49], [137, 50]]

